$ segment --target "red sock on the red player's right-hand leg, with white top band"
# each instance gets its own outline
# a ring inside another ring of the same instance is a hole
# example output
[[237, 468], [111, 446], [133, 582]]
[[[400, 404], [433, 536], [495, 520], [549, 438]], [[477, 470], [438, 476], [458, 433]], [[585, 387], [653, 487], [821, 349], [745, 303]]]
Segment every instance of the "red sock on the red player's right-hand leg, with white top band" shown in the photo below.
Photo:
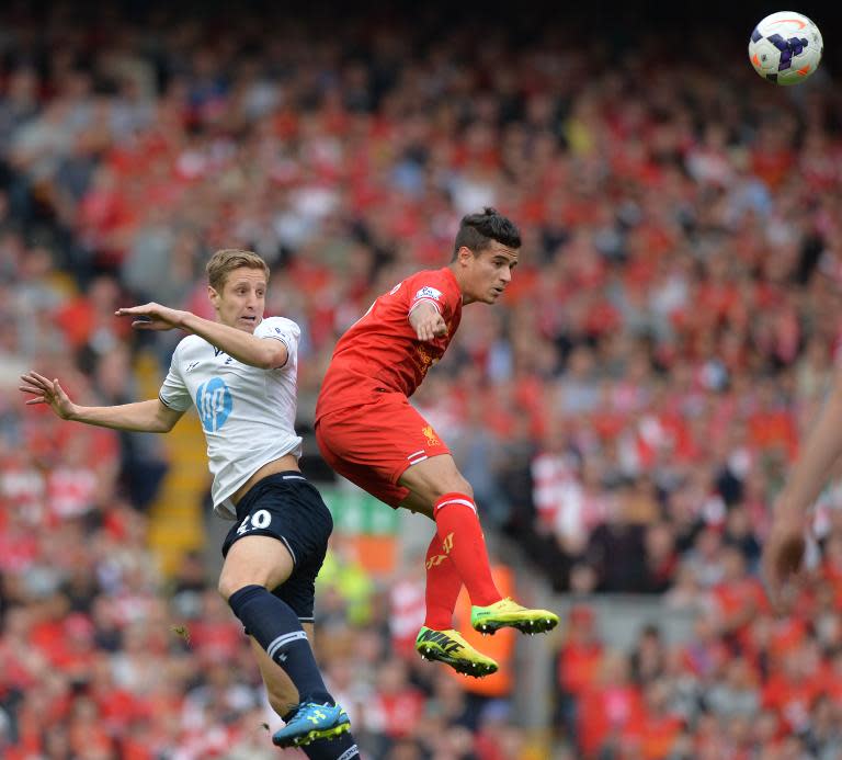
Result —
[[502, 599], [491, 578], [477, 506], [465, 494], [445, 494], [433, 508], [443, 549], [468, 589], [470, 603], [487, 606]]

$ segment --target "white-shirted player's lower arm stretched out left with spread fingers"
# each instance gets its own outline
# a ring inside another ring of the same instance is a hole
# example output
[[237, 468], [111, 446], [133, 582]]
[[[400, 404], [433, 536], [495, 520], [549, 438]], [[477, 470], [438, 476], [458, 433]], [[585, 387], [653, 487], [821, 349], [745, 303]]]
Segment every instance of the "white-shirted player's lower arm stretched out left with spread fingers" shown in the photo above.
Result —
[[167, 433], [184, 413], [170, 409], [157, 398], [114, 407], [82, 407], [70, 400], [58, 379], [50, 381], [37, 372], [21, 375], [21, 379], [24, 383], [20, 386], [21, 392], [32, 396], [27, 406], [46, 404], [62, 420], [115, 430]]

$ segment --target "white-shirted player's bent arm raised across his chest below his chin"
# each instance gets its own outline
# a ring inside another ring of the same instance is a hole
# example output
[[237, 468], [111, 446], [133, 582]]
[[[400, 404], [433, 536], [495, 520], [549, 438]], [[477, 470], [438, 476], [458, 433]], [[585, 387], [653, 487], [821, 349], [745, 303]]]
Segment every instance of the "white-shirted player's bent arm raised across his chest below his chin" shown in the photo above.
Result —
[[116, 310], [120, 317], [134, 317], [136, 330], [172, 330], [178, 328], [204, 338], [238, 362], [261, 370], [274, 370], [286, 364], [286, 345], [278, 340], [255, 338], [244, 330], [197, 317], [192, 311], [171, 309], [151, 303]]

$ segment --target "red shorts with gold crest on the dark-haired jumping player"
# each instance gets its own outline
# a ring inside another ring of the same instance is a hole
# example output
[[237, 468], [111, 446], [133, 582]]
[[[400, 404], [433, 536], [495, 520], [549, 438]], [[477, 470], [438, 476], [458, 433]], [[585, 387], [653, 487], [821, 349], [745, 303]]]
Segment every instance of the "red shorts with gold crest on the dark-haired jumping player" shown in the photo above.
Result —
[[451, 453], [407, 397], [391, 392], [373, 392], [369, 401], [323, 415], [316, 441], [337, 473], [390, 507], [409, 496], [398, 485], [407, 467]]

